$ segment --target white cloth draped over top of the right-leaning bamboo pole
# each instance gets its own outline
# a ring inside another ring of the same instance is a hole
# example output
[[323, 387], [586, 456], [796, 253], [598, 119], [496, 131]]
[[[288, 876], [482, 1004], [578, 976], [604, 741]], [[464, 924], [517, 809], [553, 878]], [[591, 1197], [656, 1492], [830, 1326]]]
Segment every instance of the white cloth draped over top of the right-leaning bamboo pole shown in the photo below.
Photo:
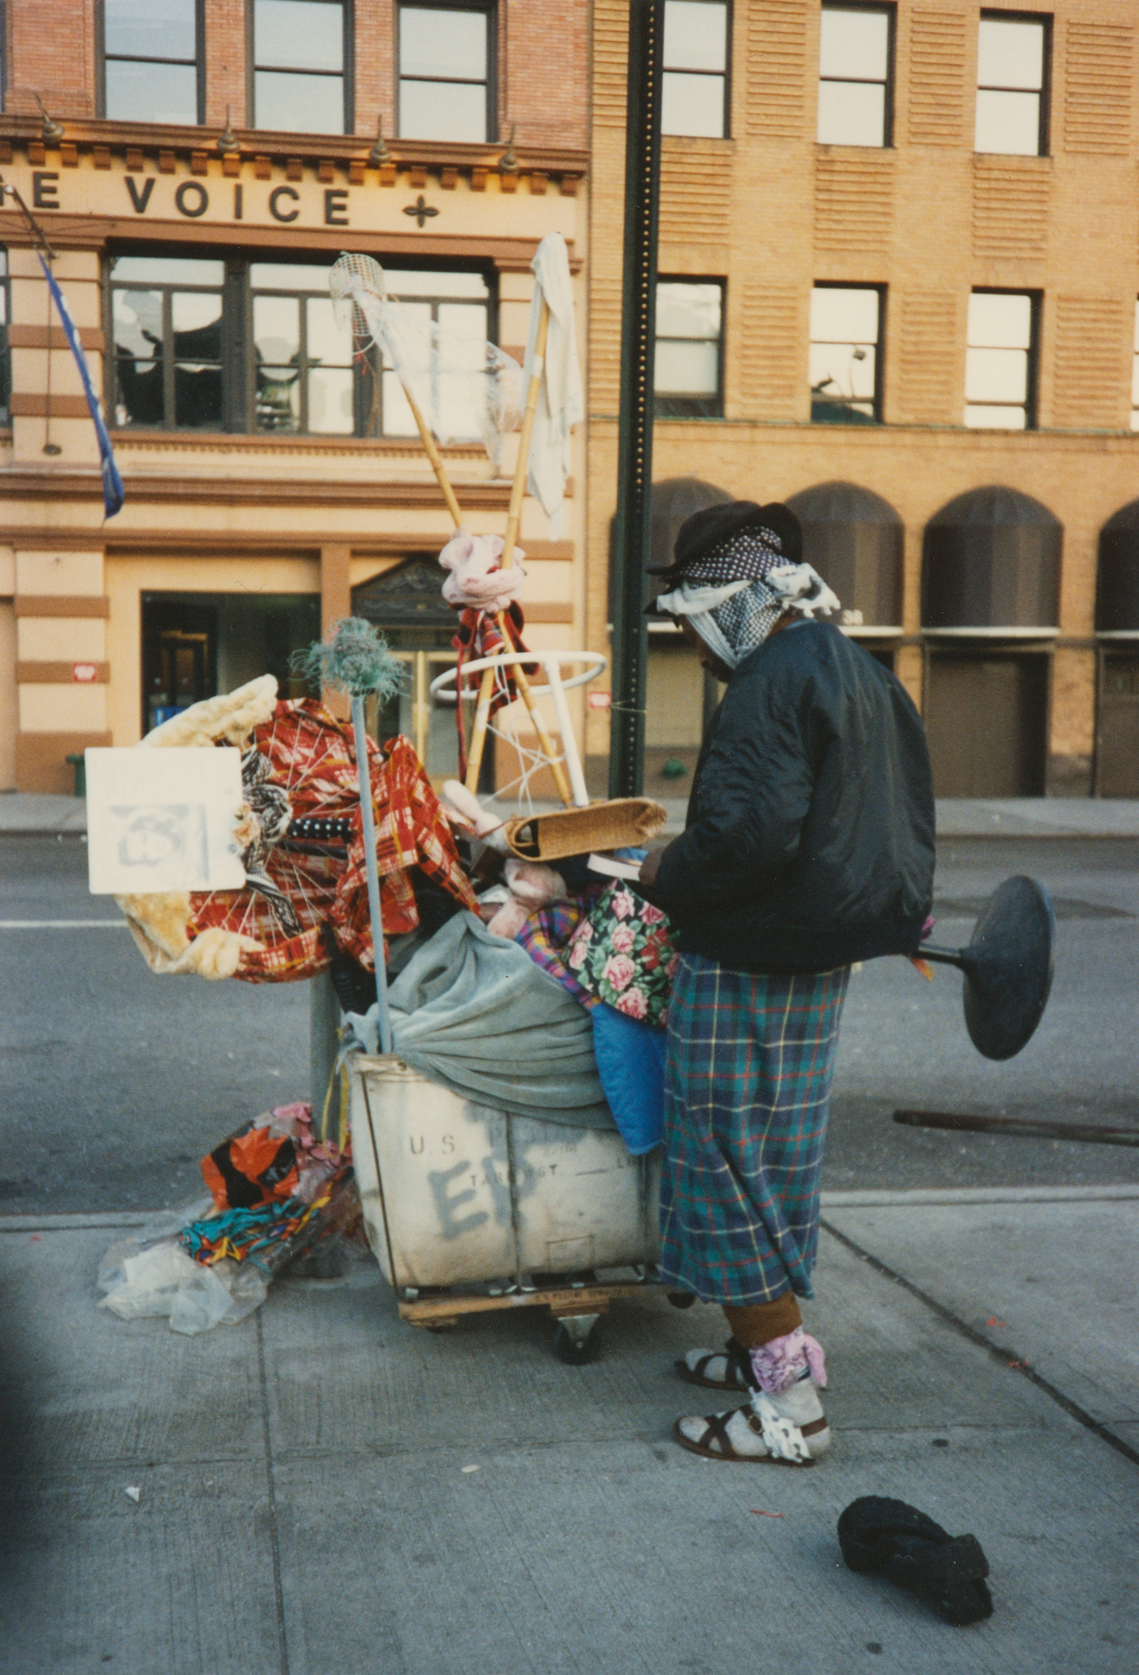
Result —
[[570, 476], [570, 432], [585, 419], [585, 389], [578, 367], [578, 335], [573, 323], [570, 255], [561, 233], [546, 233], [534, 260], [534, 302], [529, 312], [529, 340], [523, 387], [534, 372], [534, 345], [543, 296], [549, 303], [549, 335], [541, 368], [534, 434], [529, 444], [526, 486], [549, 518], [549, 533], [559, 541], [566, 533], [563, 497]]

